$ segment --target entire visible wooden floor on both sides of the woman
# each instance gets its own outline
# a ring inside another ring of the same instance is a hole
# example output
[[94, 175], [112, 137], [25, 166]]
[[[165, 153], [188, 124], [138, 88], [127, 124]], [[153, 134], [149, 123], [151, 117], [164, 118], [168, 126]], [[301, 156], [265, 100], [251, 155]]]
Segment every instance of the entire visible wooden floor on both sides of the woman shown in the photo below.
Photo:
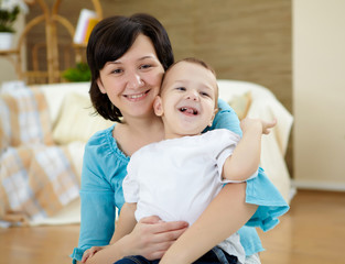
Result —
[[[0, 263], [71, 263], [78, 232], [78, 226], [0, 229]], [[280, 224], [259, 234], [262, 264], [345, 263], [345, 193], [299, 190]]]

